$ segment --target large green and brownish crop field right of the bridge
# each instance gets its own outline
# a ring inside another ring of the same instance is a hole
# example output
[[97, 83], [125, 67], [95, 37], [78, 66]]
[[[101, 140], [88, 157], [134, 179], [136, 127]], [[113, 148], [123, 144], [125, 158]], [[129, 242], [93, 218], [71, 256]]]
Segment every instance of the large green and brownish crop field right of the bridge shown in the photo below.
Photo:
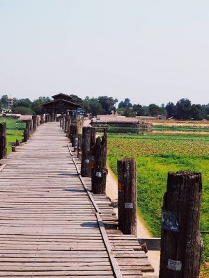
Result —
[[[208, 133], [209, 135], [209, 133]], [[162, 199], [167, 173], [192, 170], [203, 175], [201, 231], [209, 227], [209, 136], [109, 134], [108, 163], [117, 174], [117, 160], [134, 157], [137, 161], [137, 204], [153, 236], [160, 236]], [[203, 234], [203, 261], [209, 256], [209, 236]], [[202, 270], [204, 271], [204, 270]], [[208, 270], [205, 270], [208, 273]], [[206, 277], [206, 273], [204, 276]], [[208, 277], [208, 276], [207, 276]]]

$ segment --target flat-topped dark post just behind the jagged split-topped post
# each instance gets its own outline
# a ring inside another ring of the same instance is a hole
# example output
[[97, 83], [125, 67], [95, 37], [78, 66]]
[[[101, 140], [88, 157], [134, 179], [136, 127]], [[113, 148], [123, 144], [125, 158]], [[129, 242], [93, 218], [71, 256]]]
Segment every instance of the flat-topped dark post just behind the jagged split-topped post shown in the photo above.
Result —
[[91, 177], [91, 152], [95, 145], [95, 128], [84, 126], [82, 132], [82, 177]]

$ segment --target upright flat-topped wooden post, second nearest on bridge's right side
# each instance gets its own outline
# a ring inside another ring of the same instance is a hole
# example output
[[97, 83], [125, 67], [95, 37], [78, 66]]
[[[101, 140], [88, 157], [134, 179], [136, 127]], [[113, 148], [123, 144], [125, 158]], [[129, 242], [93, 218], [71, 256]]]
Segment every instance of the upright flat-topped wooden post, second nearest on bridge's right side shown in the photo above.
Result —
[[137, 235], [137, 170], [134, 158], [118, 161], [118, 229]]

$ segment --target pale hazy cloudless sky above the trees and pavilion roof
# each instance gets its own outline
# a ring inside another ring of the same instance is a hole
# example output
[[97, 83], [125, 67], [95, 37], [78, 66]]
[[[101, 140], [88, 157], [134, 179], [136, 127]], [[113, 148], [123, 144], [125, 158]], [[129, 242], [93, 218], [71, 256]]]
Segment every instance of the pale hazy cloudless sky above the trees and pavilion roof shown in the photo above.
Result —
[[209, 102], [208, 0], [0, 0], [0, 96]]

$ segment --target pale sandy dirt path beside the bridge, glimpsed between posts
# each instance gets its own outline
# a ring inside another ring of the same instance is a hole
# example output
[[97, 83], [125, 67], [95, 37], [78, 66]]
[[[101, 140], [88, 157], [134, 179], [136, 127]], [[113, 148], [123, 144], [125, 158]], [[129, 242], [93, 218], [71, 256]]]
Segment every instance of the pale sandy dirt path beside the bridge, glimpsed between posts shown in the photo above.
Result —
[[[114, 173], [111, 171], [111, 169], [108, 167], [108, 175], [107, 175], [107, 187], [106, 187], [106, 193], [107, 196], [111, 198], [111, 201], [115, 201], [118, 199], [118, 183], [116, 180], [116, 177], [114, 176]], [[116, 214], [118, 213], [118, 209], [114, 208]], [[137, 217], [137, 237], [138, 238], [151, 238], [152, 235], [148, 231], [146, 224], [141, 219], [141, 217], [138, 215]], [[160, 252], [159, 251], [148, 251], [148, 259], [150, 263], [153, 265], [153, 268], [155, 269], [155, 272], [153, 275], [159, 274], [159, 266], [160, 266]], [[147, 274], [150, 276], [150, 273]], [[146, 273], [144, 273], [144, 276], [146, 276]]]

